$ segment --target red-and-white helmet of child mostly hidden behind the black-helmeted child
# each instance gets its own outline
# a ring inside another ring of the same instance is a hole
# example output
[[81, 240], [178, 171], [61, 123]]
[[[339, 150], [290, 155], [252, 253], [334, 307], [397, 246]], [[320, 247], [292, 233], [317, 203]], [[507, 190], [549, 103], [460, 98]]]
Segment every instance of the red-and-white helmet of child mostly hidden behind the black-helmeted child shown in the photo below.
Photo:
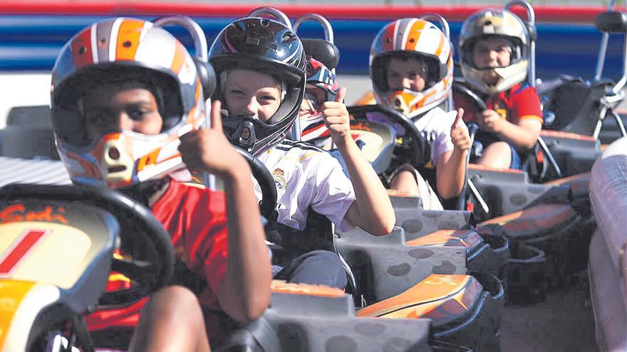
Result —
[[340, 86], [336, 75], [320, 61], [309, 58], [307, 63], [307, 85], [301, 105], [301, 140], [311, 142], [314, 139], [328, 137], [324, 126], [321, 105], [336, 100]]

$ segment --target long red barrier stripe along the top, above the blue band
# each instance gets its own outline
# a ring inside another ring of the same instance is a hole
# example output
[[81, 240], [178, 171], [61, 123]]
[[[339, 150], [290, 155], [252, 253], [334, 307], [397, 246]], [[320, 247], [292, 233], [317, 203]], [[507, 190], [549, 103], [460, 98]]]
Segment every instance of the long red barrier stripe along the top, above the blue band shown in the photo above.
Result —
[[[197, 3], [162, 3], [149, 1], [101, 1], [101, 2], [66, 2], [61, 1], [6, 1], [0, 4], [0, 14], [100, 14], [100, 15], [165, 15], [182, 14], [203, 17], [238, 17], [244, 16], [257, 5], [249, 4], [197, 4]], [[464, 21], [473, 12], [487, 6], [333, 6], [333, 5], [279, 5], [277, 9], [288, 16], [301, 16], [315, 12], [333, 19], [388, 20], [407, 16], [436, 13], [449, 21]], [[524, 14], [522, 9], [514, 9], [517, 14]], [[535, 6], [536, 21], [573, 23], [593, 23], [596, 15], [606, 11], [603, 6]], [[620, 9], [624, 11], [624, 8]]]

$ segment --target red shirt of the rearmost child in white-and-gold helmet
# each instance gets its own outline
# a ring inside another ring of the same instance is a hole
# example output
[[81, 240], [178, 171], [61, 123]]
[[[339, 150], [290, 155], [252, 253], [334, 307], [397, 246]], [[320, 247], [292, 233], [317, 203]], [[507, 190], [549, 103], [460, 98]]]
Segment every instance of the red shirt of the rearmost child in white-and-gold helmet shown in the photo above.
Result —
[[[463, 95], [455, 94], [453, 98], [455, 108], [462, 107], [464, 109], [464, 121], [476, 121], [476, 116], [480, 112], [477, 112], [475, 105]], [[494, 110], [512, 124], [518, 124], [523, 119], [535, 119], [541, 123], [544, 122], [541, 117], [540, 98], [536, 88], [527, 83], [514, 85], [509, 90], [487, 97], [485, 105], [489, 110]]]

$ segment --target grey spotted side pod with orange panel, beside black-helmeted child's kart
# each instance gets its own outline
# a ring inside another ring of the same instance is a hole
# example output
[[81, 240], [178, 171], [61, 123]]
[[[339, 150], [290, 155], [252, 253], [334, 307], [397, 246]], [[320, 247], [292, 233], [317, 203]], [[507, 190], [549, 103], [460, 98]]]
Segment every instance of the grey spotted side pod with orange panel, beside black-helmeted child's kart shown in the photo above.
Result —
[[[366, 303], [376, 302], [360, 316], [398, 318], [387, 314], [420, 306], [403, 318], [445, 314], [433, 321], [434, 334], [443, 340], [468, 348], [499, 344], [504, 288], [492, 274], [466, 275], [467, 247], [408, 245], [402, 228], [380, 237], [359, 229], [338, 236], [336, 248], [355, 274], [357, 293]], [[398, 309], [386, 310], [390, 304]]]

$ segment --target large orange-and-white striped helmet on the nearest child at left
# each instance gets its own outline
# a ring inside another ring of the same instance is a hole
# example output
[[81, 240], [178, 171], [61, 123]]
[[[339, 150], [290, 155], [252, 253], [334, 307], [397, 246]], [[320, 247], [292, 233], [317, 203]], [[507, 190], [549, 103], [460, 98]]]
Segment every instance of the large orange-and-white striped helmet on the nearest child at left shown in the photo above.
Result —
[[[149, 21], [113, 18], [73, 36], [56, 59], [51, 84], [56, 146], [72, 181], [120, 188], [184, 168], [179, 137], [205, 118], [199, 71], [207, 66], [197, 65], [172, 34]], [[95, 85], [128, 82], [155, 95], [160, 134], [114, 128], [89, 137], [83, 97]]]

